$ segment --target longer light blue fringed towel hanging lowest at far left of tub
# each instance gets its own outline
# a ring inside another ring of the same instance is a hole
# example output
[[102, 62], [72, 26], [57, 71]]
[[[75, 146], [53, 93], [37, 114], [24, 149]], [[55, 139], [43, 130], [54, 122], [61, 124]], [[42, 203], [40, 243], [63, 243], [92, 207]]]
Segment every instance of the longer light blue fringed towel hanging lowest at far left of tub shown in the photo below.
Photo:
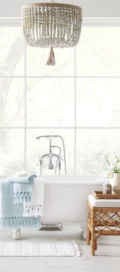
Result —
[[23, 217], [23, 204], [14, 204], [14, 184], [0, 179], [0, 228], [39, 228], [39, 217]]

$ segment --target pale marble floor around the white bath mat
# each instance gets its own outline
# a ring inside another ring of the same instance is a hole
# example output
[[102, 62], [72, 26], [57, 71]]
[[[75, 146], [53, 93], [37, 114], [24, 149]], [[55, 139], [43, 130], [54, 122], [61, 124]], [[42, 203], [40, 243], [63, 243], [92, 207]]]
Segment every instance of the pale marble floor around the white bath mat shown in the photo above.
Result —
[[[23, 240], [76, 239], [80, 257], [0, 257], [0, 272], [117, 272], [120, 270], [120, 237], [102, 236], [98, 239], [96, 256], [86, 245], [79, 226], [66, 225], [63, 231], [22, 230]], [[11, 232], [0, 231], [0, 240], [12, 240]], [[12, 240], [13, 241], [13, 240]]]

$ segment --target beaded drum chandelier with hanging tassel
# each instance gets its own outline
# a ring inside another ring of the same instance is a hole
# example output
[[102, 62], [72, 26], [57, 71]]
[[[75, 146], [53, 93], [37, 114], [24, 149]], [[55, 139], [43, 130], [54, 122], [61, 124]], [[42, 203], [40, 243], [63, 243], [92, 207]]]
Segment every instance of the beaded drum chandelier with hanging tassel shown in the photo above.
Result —
[[36, 3], [22, 6], [22, 29], [26, 43], [50, 47], [46, 65], [55, 65], [53, 47], [73, 47], [80, 38], [82, 9], [68, 4]]

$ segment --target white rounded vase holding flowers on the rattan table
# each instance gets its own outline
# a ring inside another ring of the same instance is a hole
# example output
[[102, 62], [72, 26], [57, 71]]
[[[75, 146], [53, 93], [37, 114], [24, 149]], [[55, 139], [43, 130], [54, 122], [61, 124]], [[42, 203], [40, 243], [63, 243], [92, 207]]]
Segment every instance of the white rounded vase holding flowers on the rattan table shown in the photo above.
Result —
[[112, 185], [112, 194], [120, 194], [120, 173], [114, 173], [114, 176], [110, 179]]

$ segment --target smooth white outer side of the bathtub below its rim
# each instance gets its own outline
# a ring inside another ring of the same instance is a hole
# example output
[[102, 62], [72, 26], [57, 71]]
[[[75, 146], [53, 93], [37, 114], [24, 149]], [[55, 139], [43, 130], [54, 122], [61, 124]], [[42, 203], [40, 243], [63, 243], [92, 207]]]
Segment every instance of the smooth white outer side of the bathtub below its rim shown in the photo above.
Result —
[[102, 185], [45, 185], [44, 216], [48, 222], [85, 222], [89, 194]]

